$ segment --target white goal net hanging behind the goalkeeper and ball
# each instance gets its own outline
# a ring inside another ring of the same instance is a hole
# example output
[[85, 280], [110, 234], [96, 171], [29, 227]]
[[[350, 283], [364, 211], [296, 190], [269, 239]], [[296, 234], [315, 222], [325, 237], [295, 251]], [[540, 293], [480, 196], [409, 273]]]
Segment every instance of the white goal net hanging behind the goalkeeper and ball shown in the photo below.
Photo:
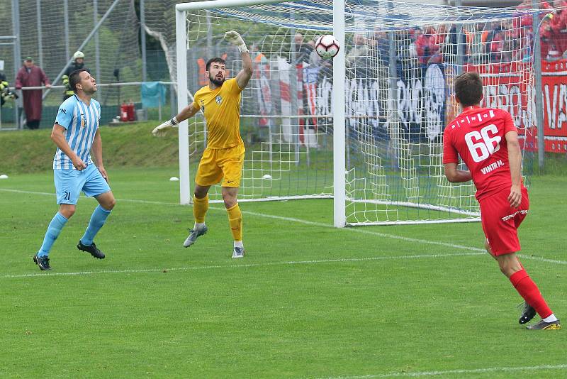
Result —
[[[252, 55], [241, 202], [333, 197], [337, 226], [478, 221], [473, 184], [449, 183], [442, 165], [444, 127], [459, 113], [452, 82], [464, 71], [481, 73], [483, 105], [509, 111], [524, 151], [533, 146], [529, 10], [349, 0], [341, 28], [329, 0], [258, 3], [205, 1], [176, 12], [179, 107], [191, 101], [184, 89], [207, 84], [208, 58], [225, 58], [229, 77], [242, 67], [225, 31], [238, 31]], [[313, 50], [323, 34], [340, 37], [333, 60]], [[181, 202], [190, 201], [207, 143], [201, 114], [186, 127]], [[210, 199], [222, 201], [220, 187]]]

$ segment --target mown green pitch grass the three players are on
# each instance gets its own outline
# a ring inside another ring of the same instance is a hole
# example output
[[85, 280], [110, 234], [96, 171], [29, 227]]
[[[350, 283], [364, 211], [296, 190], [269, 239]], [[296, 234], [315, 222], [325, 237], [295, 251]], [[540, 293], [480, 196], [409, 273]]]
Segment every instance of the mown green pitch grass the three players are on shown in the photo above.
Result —
[[[75, 247], [96, 205], [81, 198], [49, 273], [31, 258], [57, 212], [52, 173], [0, 181], [1, 377], [567, 377], [564, 331], [517, 324], [521, 299], [481, 252], [480, 224], [337, 230], [328, 200], [243, 203], [235, 261], [222, 204], [181, 247], [192, 216], [176, 205], [175, 167], [108, 173], [107, 258]], [[566, 185], [533, 177], [520, 229], [522, 262], [560, 318]]]

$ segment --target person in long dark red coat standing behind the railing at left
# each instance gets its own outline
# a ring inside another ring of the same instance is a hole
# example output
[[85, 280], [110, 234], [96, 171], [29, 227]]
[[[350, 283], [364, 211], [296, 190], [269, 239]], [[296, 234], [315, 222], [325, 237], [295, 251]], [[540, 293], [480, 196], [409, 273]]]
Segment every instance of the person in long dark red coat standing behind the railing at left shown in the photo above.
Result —
[[[16, 89], [22, 89], [22, 87], [41, 87], [45, 84], [45, 87], [51, 88], [51, 83], [45, 72], [33, 64], [32, 57], [26, 57], [23, 60], [23, 67], [18, 71], [16, 75]], [[29, 89], [23, 92], [23, 110], [26, 112], [26, 125], [30, 129], [38, 129], [40, 127], [41, 120], [41, 89]]]

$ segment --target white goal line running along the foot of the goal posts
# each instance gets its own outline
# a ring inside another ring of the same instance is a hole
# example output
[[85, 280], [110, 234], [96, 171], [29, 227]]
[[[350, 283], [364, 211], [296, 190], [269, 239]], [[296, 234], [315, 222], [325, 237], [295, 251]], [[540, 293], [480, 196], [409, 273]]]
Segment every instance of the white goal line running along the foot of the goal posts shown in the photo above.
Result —
[[[21, 189], [1, 189], [0, 188], [0, 191], [55, 196], [55, 194], [52, 194], [52, 193], [23, 191]], [[172, 202], [154, 202], [154, 201], [137, 200], [137, 199], [116, 199], [116, 200], [118, 202], [134, 202], [134, 203], [140, 203], [140, 204], [179, 205], [178, 203], [172, 203]], [[214, 211], [219, 211], [219, 212], [226, 212], [225, 208], [209, 207], [209, 209], [214, 210]], [[307, 221], [307, 220], [303, 220], [303, 219], [296, 219], [296, 218], [293, 218], [293, 217], [275, 216], [275, 215], [272, 215], [272, 214], [263, 214], [263, 213], [250, 212], [250, 211], [241, 211], [241, 212], [242, 212], [242, 214], [248, 214], [250, 216], [257, 216], [257, 217], [264, 217], [266, 219], [277, 219], [277, 220], [282, 220], [282, 221], [291, 221], [291, 222], [296, 222], [298, 224], [320, 226], [320, 227], [327, 228], [327, 229], [328, 228], [333, 228], [333, 229], [335, 228], [334, 226], [332, 226], [330, 224], [324, 224], [322, 222], [316, 222], [316, 221]], [[459, 245], [459, 244], [456, 244], [456, 243], [430, 241], [430, 240], [420, 239], [420, 238], [397, 236], [395, 234], [386, 234], [386, 233], [381, 233], [379, 231], [365, 230], [364, 227], [362, 227], [362, 228], [359, 228], [359, 227], [342, 228], [342, 229], [338, 229], [338, 230], [339, 231], [352, 231], [354, 233], [369, 234], [371, 236], [397, 239], [397, 240], [405, 241], [405, 242], [425, 243], [427, 245], [437, 245], [437, 246], [444, 246], [444, 247], [448, 247], [448, 248], [458, 248], [459, 250], [485, 252], [484, 248], [476, 248], [476, 247], [473, 247], [473, 246], [464, 246], [464, 245]], [[538, 256], [528, 256], [528, 255], [525, 255], [525, 254], [517, 254], [517, 256], [519, 256], [520, 258], [524, 258], [524, 259], [538, 260], [540, 262], [555, 263], [555, 264], [558, 264], [558, 265], [567, 265], [567, 260], [556, 260], [556, 259], [542, 258], [542, 257], [538, 257]]]

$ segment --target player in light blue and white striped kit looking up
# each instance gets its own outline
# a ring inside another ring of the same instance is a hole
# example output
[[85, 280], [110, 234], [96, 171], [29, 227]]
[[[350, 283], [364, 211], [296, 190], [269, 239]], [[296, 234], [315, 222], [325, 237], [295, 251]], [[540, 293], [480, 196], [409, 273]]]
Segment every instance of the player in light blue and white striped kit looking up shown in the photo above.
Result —
[[[99, 206], [94, 209], [77, 248], [90, 253], [94, 258], [104, 258], [93, 239], [116, 204], [102, 163], [99, 131], [101, 106], [92, 99], [96, 92], [96, 81], [88, 71], [77, 70], [69, 75], [69, 84], [74, 96], [61, 104], [51, 132], [51, 139], [57, 145], [53, 174], [60, 208], [47, 227], [40, 250], [33, 257], [40, 270], [51, 270], [48, 257], [51, 246], [69, 217], [74, 214], [81, 191], [86, 196], [94, 197]], [[94, 160], [91, 159], [91, 152]]]

